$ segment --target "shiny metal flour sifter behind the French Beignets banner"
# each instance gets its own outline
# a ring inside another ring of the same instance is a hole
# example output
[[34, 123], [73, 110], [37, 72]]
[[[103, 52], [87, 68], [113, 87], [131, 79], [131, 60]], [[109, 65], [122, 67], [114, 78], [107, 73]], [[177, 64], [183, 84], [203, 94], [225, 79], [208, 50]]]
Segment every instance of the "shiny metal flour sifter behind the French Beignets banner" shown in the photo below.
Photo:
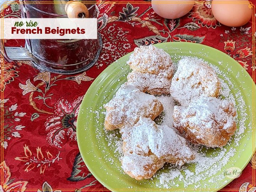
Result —
[[[29, 1], [29, 3], [26, 3]], [[33, 2], [34, 3], [31, 3]], [[48, 2], [53, 3], [48, 3]], [[48, 0], [41, 4], [37, 0], [20, 0], [22, 18], [65, 18], [65, 5], [68, 0]], [[85, 1], [85, 0], [83, 0]], [[88, 0], [86, 0], [88, 1]], [[90, 0], [90, 2], [92, 2]], [[85, 4], [89, 18], [96, 18], [96, 1]], [[25, 39], [23, 47], [4, 47], [4, 58], [8, 61], [30, 60], [40, 71], [50, 71], [59, 74], [75, 74], [89, 69], [100, 55], [102, 39], [98, 33], [97, 39]]]

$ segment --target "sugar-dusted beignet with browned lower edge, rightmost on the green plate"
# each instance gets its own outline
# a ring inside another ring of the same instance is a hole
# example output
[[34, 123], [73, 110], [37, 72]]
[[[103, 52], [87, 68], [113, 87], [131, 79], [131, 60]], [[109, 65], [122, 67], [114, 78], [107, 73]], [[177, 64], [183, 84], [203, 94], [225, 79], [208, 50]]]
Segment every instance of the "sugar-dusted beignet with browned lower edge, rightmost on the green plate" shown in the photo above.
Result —
[[216, 97], [201, 97], [187, 107], [174, 107], [174, 127], [194, 144], [226, 145], [236, 130], [233, 103]]

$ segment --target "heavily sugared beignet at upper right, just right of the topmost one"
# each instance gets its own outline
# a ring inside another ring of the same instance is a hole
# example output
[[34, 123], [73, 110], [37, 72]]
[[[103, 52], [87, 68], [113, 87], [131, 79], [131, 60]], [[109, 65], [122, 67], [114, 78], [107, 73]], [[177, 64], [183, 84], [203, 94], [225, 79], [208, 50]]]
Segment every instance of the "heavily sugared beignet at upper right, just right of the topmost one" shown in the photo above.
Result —
[[187, 106], [200, 96], [218, 97], [222, 87], [215, 71], [201, 60], [186, 57], [178, 63], [172, 78], [170, 94]]

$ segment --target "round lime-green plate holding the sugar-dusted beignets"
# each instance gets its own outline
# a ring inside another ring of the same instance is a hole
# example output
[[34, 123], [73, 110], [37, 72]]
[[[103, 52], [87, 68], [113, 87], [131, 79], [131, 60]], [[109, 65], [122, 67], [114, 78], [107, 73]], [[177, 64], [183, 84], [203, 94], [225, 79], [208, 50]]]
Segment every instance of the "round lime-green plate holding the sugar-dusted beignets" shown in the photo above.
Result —
[[[253, 98], [256, 98], [255, 84], [239, 63], [212, 47], [185, 42], [160, 43], [155, 46], [169, 53], [174, 63], [182, 56], [196, 56], [217, 69], [225, 90], [229, 90], [223, 92], [223, 97], [233, 98], [237, 105], [238, 129], [235, 135], [222, 149], [202, 147], [206, 158], [215, 159], [210, 161], [209, 165], [208, 162], [205, 163], [208, 167], [200, 169], [196, 168], [197, 163], [183, 165], [183, 178], [175, 177], [173, 171], [177, 170], [177, 167], [167, 164], [152, 180], [136, 181], [124, 174], [118, 159], [120, 148], [116, 149], [119, 146], [118, 141], [121, 142], [120, 135], [118, 131], [105, 131], [103, 104], [110, 101], [118, 88], [126, 82], [130, 71], [126, 64], [129, 53], [108, 66], [85, 94], [77, 122], [77, 139], [82, 158], [92, 175], [111, 191], [149, 191], [166, 188], [174, 191], [193, 191], [194, 188], [217, 191], [233, 180], [224, 174], [225, 171], [231, 167], [243, 170], [254, 154], [252, 127], [255, 128], [255, 124], [252, 124], [252, 119], [255, 119], [255, 106], [252, 106], [252, 102]], [[165, 177], [166, 175], [168, 177]], [[170, 176], [173, 178], [170, 179]], [[160, 182], [160, 177], [170, 180]]]

